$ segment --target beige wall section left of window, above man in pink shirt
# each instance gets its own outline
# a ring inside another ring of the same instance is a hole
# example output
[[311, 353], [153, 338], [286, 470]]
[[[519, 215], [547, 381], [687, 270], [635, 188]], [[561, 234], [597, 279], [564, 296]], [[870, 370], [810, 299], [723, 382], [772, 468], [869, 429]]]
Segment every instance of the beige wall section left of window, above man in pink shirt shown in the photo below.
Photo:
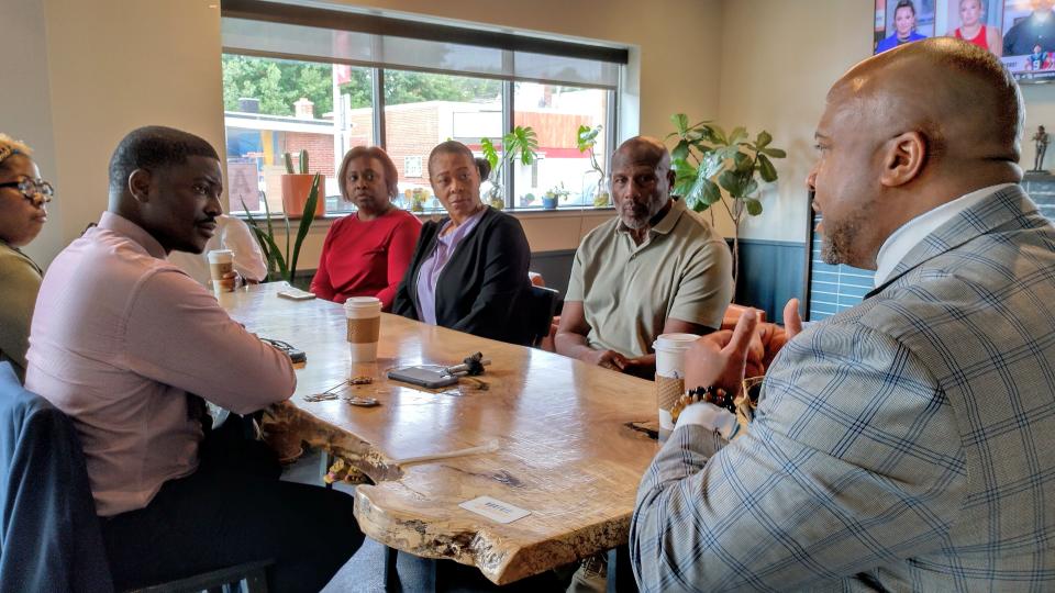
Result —
[[44, 2], [67, 242], [106, 210], [110, 154], [129, 131], [170, 125], [223, 149], [220, 11], [211, 4]]

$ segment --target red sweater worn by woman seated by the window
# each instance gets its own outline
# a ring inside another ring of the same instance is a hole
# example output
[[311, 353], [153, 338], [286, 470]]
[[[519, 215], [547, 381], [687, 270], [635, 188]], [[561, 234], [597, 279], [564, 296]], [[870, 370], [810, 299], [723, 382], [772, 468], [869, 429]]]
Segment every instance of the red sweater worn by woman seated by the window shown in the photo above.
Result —
[[338, 219], [322, 244], [311, 291], [335, 303], [377, 296], [388, 311], [420, 233], [421, 222], [397, 208], [369, 222], [356, 214]]

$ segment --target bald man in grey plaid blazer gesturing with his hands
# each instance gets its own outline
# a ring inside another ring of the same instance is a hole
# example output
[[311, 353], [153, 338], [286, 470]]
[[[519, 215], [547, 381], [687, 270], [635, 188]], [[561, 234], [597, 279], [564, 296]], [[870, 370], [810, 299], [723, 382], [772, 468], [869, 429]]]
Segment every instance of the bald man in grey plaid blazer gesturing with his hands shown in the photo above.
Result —
[[[682, 412], [638, 491], [643, 590], [1055, 589], [1055, 228], [1022, 113], [952, 38], [836, 82], [808, 183], [825, 259], [877, 288], [785, 346], [746, 432]], [[754, 323], [701, 338], [687, 385], [736, 389]]]

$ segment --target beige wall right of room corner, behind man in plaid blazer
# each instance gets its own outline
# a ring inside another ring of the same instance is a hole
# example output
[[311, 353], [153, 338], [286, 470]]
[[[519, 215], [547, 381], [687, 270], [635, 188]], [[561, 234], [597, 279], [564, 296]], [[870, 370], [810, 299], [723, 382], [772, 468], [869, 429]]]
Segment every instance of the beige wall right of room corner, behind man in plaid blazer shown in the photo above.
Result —
[[[847, 68], [871, 55], [874, 0], [726, 0], [718, 118], [728, 128], [768, 130], [788, 150], [777, 161], [776, 187], [765, 212], [742, 236], [806, 240], [803, 181], [814, 158], [813, 130], [828, 89]], [[1037, 124], [1055, 125], [1055, 86], [1023, 86], [1026, 142], [1022, 163], [1033, 165], [1028, 138]], [[1051, 126], [1050, 126], [1051, 127]], [[1050, 152], [1048, 166], [1055, 168]]]

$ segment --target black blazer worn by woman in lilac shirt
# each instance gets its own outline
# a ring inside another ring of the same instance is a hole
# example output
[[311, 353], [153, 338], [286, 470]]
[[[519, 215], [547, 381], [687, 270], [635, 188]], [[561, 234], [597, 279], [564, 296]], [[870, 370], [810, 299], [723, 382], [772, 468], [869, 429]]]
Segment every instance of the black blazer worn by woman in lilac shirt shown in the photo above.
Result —
[[[392, 313], [418, 320], [418, 272], [436, 250], [447, 217], [426, 222], [418, 238]], [[531, 282], [531, 249], [520, 221], [490, 208], [451, 255], [435, 289], [436, 323], [443, 327], [510, 344], [531, 338], [522, 303]], [[418, 320], [421, 321], [421, 320]]]

